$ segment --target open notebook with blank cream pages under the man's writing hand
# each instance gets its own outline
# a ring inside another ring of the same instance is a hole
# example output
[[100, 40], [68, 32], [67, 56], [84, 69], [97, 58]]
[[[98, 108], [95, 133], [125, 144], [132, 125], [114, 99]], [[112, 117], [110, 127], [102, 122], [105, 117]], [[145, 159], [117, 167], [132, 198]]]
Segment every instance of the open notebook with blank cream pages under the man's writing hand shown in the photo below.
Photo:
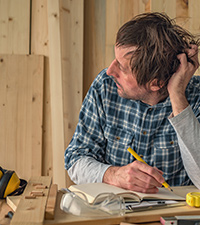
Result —
[[130, 191], [106, 183], [87, 183], [80, 185], [71, 185], [68, 189], [72, 192], [84, 193], [89, 203], [92, 203], [95, 197], [102, 193], [114, 193], [117, 195], [121, 195], [126, 202], [140, 202], [142, 200], [147, 199], [185, 200], [185, 198], [174, 194], [166, 188], [159, 188], [159, 192], [156, 194], [144, 194], [140, 192]]

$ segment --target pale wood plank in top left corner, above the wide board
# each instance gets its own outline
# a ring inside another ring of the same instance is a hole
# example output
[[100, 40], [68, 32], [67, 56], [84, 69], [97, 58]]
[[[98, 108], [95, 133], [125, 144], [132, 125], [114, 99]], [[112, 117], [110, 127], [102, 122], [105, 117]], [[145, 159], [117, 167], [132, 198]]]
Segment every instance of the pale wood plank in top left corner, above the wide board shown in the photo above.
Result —
[[29, 54], [30, 0], [0, 0], [0, 53]]

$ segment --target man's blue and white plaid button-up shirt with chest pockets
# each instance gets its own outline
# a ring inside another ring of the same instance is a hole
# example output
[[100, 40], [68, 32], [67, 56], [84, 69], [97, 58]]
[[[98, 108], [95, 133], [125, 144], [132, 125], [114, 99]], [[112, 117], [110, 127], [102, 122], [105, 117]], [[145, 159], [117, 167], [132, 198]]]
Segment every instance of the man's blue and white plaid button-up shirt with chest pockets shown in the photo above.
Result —
[[[200, 77], [193, 77], [186, 97], [200, 120]], [[113, 166], [123, 166], [135, 158], [130, 146], [151, 166], [163, 171], [172, 186], [191, 185], [183, 166], [176, 132], [168, 117], [170, 98], [150, 106], [124, 99], [115, 82], [101, 71], [83, 101], [79, 122], [65, 152], [68, 170], [80, 157], [89, 156]]]

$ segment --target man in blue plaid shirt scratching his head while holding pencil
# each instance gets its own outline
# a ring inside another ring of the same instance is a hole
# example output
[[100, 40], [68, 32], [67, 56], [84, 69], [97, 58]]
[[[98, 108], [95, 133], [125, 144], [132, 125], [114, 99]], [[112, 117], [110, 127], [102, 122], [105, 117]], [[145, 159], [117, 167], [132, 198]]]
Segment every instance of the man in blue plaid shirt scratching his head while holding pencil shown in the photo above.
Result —
[[156, 193], [164, 180], [200, 188], [197, 46], [161, 13], [138, 15], [119, 29], [115, 59], [91, 85], [65, 152], [75, 183], [146, 193]]

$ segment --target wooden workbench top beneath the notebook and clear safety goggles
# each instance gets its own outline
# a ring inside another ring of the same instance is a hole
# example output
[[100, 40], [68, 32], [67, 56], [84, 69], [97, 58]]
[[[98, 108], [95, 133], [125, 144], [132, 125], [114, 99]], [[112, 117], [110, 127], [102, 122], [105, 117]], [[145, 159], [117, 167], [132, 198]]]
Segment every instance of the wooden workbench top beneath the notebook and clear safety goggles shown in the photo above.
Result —
[[[187, 187], [173, 187], [175, 193], [185, 196], [188, 192], [199, 191], [193, 186]], [[161, 216], [177, 216], [177, 215], [199, 215], [200, 208], [193, 208], [188, 205], [167, 209], [156, 209], [150, 211], [143, 211], [137, 213], [126, 214], [125, 216], [104, 216], [104, 217], [79, 217], [71, 214], [67, 214], [60, 210], [60, 199], [62, 193], [58, 192], [55, 219], [44, 220], [45, 225], [110, 225], [110, 224], [160, 224], [159, 220]], [[0, 224], [9, 224], [9, 220], [2, 220], [2, 213], [4, 215], [9, 211], [9, 207], [6, 203], [1, 201], [2, 207], [0, 210]], [[4, 208], [4, 209], [3, 209]], [[5, 218], [4, 218], [5, 219]]]

